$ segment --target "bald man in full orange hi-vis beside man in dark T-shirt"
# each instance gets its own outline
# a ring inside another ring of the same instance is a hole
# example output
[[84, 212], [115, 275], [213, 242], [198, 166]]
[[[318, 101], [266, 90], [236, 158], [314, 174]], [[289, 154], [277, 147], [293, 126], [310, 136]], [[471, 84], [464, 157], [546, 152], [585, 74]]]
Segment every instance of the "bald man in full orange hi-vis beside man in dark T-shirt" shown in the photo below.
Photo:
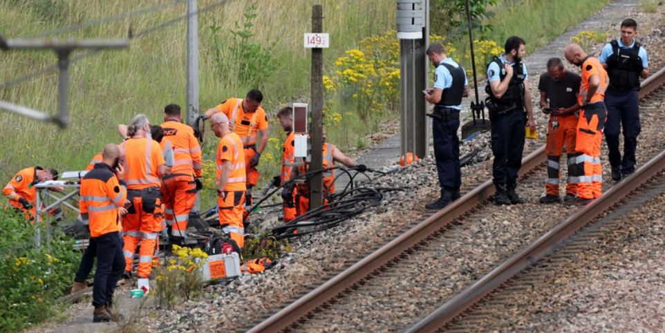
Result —
[[607, 72], [596, 57], [587, 55], [577, 44], [565, 48], [565, 59], [582, 68], [582, 83], [578, 104], [581, 106], [577, 124], [577, 198], [566, 204], [588, 204], [603, 194], [603, 171], [600, 161], [600, 146], [607, 119], [607, 108], [603, 99], [609, 85]]

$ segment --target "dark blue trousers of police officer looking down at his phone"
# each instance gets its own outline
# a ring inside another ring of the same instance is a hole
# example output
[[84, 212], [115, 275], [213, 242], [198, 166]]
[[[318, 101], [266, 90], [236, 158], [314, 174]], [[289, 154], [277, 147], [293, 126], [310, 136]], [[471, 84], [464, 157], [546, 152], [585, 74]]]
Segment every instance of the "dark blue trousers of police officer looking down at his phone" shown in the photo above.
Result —
[[434, 141], [434, 158], [436, 171], [439, 174], [439, 186], [446, 189], [459, 189], [462, 185], [460, 171], [460, 137], [457, 130], [460, 120], [432, 120], [432, 137]]

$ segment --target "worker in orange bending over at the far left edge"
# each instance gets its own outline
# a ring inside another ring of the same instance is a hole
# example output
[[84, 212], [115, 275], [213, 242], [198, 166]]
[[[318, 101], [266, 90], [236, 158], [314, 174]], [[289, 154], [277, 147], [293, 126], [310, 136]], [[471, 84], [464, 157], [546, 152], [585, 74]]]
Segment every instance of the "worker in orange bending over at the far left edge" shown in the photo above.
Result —
[[[17, 211], [23, 211], [30, 223], [35, 222], [37, 191], [33, 186], [45, 180], [57, 180], [57, 174], [55, 169], [44, 170], [41, 167], [23, 169], [14, 175], [14, 178], [2, 189], [2, 193], [9, 198], [11, 207]], [[51, 209], [49, 213], [56, 222], [62, 220], [62, 209], [59, 207]]]

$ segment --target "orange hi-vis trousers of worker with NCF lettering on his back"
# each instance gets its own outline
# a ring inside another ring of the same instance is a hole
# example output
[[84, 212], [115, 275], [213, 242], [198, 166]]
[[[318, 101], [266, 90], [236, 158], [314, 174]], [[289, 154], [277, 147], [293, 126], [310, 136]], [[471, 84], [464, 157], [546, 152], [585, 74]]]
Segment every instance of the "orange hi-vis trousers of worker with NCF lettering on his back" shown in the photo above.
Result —
[[196, 201], [194, 176], [169, 175], [162, 180], [162, 202], [165, 204], [164, 219], [171, 226], [171, 235], [185, 237], [189, 211]]

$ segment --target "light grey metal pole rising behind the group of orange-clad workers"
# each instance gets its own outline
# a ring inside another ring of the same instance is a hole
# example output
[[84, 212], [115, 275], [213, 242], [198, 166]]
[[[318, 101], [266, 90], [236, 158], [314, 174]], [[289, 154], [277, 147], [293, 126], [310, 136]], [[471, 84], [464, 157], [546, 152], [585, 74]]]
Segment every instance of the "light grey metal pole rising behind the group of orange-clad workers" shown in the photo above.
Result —
[[[196, 0], [187, 0], [187, 125], [192, 126], [198, 117], [198, 14]], [[200, 196], [196, 193], [191, 213], [199, 215]]]

